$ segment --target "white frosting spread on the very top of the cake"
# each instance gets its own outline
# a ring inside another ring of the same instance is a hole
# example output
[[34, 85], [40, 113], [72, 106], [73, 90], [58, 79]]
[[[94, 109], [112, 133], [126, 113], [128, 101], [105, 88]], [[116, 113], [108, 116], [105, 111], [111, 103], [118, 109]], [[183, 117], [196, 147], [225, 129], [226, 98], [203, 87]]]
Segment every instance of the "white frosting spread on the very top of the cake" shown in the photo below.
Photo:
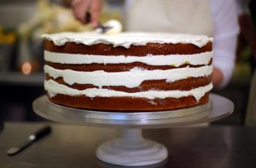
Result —
[[129, 47], [130, 45], [146, 45], [147, 43], [186, 43], [203, 47], [213, 38], [193, 34], [170, 34], [158, 32], [124, 32], [120, 34], [98, 34], [96, 32], [62, 32], [58, 34], [44, 34], [43, 39], [53, 41], [54, 45], [65, 45], [66, 42], [75, 42], [84, 45], [104, 43], [114, 47]]

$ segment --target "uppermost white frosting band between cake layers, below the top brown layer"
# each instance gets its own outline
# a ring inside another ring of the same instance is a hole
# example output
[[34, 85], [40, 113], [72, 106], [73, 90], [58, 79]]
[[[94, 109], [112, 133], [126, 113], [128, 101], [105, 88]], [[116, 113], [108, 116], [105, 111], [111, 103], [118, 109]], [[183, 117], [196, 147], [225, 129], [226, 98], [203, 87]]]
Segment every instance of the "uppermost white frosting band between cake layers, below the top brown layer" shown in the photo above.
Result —
[[53, 53], [45, 50], [45, 60], [60, 64], [129, 64], [141, 62], [152, 66], [181, 66], [182, 64], [207, 65], [211, 61], [212, 52], [193, 55], [167, 55], [167, 56], [99, 56], [71, 53]]

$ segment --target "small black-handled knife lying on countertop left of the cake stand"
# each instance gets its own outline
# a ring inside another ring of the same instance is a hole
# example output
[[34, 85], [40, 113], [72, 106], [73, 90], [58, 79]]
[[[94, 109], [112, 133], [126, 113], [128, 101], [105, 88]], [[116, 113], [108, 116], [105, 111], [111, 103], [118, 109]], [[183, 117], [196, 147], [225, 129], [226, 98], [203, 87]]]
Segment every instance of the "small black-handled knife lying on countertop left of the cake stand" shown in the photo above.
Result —
[[38, 131], [36, 131], [34, 134], [29, 135], [28, 140], [26, 142], [23, 142], [22, 144], [10, 148], [10, 150], [7, 150], [7, 155], [13, 156], [19, 153], [21, 150], [29, 147], [29, 145], [31, 145], [32, 143], [50, 134], [50, 131], [51, 131], [50, 126], [44, 126], [42, 129], [39, 129]]

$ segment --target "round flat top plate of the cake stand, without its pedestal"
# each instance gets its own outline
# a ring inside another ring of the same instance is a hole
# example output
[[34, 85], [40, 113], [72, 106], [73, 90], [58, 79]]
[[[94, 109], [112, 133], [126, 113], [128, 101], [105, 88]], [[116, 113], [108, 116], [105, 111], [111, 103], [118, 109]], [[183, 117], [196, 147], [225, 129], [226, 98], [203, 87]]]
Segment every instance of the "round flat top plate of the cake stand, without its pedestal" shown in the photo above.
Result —
[[64, 107], [40, 96], [33, 102], [38, 115], [51, 121], [86, 126], [104, 126], [126, 129], [151, 129], [208, 123], [225, 118], [233, 112], [229, 99], [211, 93], [206, 104], [180, 110], [159, 112], [103, 112]]

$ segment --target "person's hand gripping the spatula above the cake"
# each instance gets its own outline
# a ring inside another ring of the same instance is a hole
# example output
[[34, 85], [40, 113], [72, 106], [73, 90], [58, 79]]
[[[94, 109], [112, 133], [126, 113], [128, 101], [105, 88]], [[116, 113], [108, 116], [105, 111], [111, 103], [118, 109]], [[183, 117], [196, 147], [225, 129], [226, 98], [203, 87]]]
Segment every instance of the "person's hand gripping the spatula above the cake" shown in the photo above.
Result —
[[98, 26], [99, 13], [102, 10], [101, 0], [72, 0], [72, 11], [75, 18], [86, 23], [86, 12], [91, 13], [91, 24], [94, 28]]

